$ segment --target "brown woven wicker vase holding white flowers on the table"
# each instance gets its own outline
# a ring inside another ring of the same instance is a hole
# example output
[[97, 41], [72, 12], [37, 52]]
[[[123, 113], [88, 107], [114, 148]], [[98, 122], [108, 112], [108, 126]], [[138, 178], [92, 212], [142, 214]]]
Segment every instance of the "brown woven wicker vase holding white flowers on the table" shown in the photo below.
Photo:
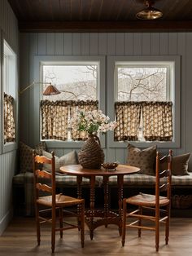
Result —
[[89, 135], [78, 153], [79, 163], [85, 169], [100, 169], [104, 162], [104, 152], [96, 135]]

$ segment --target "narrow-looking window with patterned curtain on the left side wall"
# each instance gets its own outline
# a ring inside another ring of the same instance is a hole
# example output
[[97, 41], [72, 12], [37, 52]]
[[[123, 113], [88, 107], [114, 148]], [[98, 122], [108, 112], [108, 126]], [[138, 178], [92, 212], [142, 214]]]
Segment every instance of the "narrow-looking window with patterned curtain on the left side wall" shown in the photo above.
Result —
[[15, 143], [16, 117], [16, 55], [6, 40], [3, 40], [2, 84], [3, 97], [3, 141], [4, 145]]

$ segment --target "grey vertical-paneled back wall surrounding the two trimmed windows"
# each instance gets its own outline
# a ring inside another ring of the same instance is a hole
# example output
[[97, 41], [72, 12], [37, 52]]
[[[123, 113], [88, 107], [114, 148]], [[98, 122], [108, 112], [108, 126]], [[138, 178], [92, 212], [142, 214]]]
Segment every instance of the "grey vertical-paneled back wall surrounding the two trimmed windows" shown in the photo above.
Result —
[[[192, 33], [21, 33], [20, 85], [33, 81], [34, 55], [181, 55], [181, 147], [172, 149], [174, 155], [192, 152], [191, 45]], [[32, 91], [28, 90], [21, 101], [20, 138], [34, 146]], [[72, 150], [49, 149], [55, 150], [58, 156]], [[160, 150], [167, 152], [168, 148]], [[106, 147], [105, 155], [106, 161], [126, 162], [127, 150]]]

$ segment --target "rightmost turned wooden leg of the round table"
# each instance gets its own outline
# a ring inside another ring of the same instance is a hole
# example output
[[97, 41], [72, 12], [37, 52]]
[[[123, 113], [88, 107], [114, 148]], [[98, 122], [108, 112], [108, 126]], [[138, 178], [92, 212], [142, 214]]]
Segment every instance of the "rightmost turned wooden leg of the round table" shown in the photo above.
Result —
[[123, 184], [124, 184], [124, 175], [117, 176], [118, 183], [118, 196], [119, 196], [119, 233], [122, 234], [122, 202], [123, 202]]

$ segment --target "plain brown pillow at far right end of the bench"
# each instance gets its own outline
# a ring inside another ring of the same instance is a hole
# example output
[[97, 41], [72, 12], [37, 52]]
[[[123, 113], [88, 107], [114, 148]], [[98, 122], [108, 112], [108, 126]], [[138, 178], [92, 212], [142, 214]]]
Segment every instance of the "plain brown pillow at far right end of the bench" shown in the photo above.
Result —
[[172, 174], [173, 175], [190, 175], [187, 171], [189, 161], [190, 161], [190, 153], [172, 157]]

